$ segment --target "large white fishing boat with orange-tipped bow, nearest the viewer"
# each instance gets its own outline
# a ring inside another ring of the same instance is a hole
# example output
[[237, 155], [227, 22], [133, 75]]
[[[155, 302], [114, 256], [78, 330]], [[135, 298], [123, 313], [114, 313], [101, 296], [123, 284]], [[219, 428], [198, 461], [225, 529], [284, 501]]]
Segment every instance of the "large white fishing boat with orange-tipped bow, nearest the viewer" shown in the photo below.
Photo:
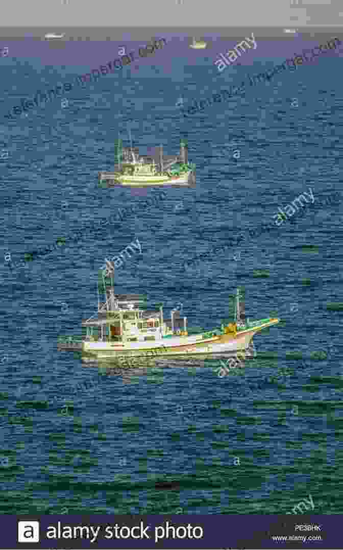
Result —
[[[146, 296], [117, 294], [114, 288], [114, 266], [106, 261], [107, 270], [99, 274], [98, 312], [82, 321], [82, 359], [139, 360], [142, 357], [185, 359], [211, 358], [217, 354], [251, 349], [252, 338], [264, 328], [279, 322], [278, 318], [245, 320], [241, 292], [233, 296], [235, 321], [211, 331], [192, 334], [187, 317], [172, 310], [170, 318], [163, 314], [163, 304], [147, 307]], [[101, 291], [101, 292], [100, 292]], [[100, 296], [104, 295], [104, 301]], [[60, 348], [63, 349], [63, 348]], [[68, 344], [64, 349], [73, 349]], [[76, 348], [75, 348], [76, 349]], [[80, 345], [78, 344], [78, 348]]]

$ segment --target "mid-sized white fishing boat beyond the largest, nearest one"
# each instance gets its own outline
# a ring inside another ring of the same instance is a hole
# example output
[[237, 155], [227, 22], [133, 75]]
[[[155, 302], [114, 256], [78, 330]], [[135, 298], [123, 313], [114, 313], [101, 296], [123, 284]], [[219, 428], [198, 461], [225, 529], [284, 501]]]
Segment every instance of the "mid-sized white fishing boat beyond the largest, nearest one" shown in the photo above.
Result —
[[[130, 135], [131, 142], [131, 135]], [[139, 155], [137, 148], [130, 149], [123, 147], [122, 141], [118, 138], [115, 147], [117, 151], [118, 167], [114, 172], [99, 172], [99, 185], [130, 185], [130, 186], [151, 186], [151, 185], [194, 185], [195, 164], [189, 164], [187, 144], [180, 142], [180, 154], [172, 157], [172, 160], [163, 158], [163, 147], [159, 147], [159, 162], [156, 163], [152, 157]]]

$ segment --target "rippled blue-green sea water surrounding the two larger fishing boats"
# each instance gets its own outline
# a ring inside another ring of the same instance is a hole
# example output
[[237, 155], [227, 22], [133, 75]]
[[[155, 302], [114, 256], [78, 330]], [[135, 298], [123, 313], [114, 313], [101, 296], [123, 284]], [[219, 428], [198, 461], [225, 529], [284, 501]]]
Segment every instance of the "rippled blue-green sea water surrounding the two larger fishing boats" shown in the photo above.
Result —
[[[182, 47], [14, 122], [4, 113], [21, 97], [87, 67], [1, 61], [1, 513], [281, 514], [309, 494], [313, 513], [342, 512], [342, 311], [327, 309], [343, 302], [342, 207], [324, 205], [342, 187], [341, 59], [184, 118], [180, 95], [190, 105], [287, 56], [219, 74], [214, 54]], [[161, 143], [172, 155], [185, 137], [196, 188], [168, 188], [158, 205], [16, 268], [25, 252], [157, 193], [98, 187], [128, 127], [141, 152]], [[185, 270], [310, 188], [313, 206], [246, 241], [239, 260], [232, 249]], [[211, 329], [244, 287], [247, 317], [283, 320], [254, 338], [255, 359], [222, 378], [218, 360], [104, 373], [57, 350], [95, 313], [104, 258], [136, 238], [142, 254], [116, 270], [118, 291], [166, 313], [181, 303], [190, 327]]]

